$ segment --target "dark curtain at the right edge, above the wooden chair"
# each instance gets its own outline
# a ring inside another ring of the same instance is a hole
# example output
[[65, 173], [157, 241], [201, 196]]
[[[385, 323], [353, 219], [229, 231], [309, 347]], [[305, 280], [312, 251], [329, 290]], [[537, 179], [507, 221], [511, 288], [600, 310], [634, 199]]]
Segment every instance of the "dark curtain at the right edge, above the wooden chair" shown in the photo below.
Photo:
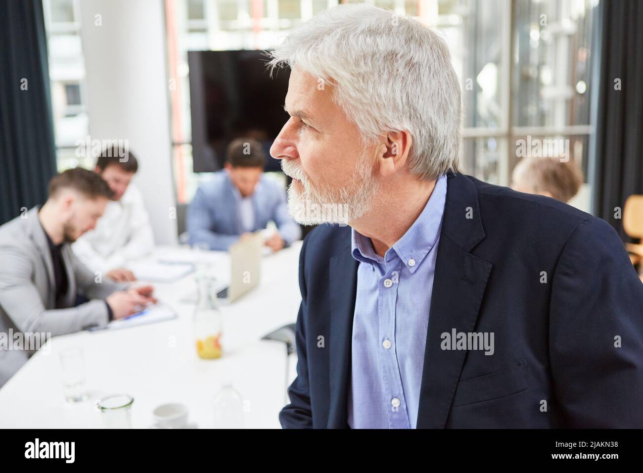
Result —
[[600, 8], [593, 209], [628, 241], [614, 209], [643, 194], [643, 1], [601, 0]]

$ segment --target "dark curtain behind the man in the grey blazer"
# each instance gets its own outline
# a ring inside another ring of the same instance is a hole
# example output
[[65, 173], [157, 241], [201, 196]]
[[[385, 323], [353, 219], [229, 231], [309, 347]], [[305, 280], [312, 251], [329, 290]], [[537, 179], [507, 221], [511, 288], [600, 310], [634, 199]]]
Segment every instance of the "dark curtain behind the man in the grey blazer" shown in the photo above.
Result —
[[41, 0], [0, 0], [0, 223], [43, 203], [56, 172]]

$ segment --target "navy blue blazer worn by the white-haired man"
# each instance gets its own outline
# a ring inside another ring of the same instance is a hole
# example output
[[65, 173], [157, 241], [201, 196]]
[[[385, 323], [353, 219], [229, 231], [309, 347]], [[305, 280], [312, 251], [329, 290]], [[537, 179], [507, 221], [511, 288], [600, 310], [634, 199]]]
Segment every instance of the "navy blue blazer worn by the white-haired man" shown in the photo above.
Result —
[[[417, 427], [643, 427], [643, 284], [615, 230], [554, 199], [448, 179]], [[357, 268], [350, 227], [306, 237], [285, 428], [348, 427]], [[493, 332], [493, 355], [440, 348], [454, 328]]]

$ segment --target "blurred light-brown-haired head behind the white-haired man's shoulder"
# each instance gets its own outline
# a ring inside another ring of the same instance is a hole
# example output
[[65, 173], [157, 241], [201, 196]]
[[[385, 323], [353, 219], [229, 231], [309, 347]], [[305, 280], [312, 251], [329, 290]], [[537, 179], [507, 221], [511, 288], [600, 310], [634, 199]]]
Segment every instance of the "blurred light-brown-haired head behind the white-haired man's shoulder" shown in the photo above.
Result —
[[518, 192], [552, 197], [567, 203], [583, 184], [583, 171], [574, 160], [523, 158], [514, 168], [511, 187]]

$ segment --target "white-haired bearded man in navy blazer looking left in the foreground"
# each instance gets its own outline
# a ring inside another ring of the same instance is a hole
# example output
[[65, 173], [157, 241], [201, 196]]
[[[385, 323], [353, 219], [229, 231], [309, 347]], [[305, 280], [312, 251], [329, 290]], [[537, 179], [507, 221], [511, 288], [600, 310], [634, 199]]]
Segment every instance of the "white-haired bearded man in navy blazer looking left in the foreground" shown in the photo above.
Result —
[[[643, 427], [643, 285], [617, 232], [458, 171], [437, 33], [345, 4], [269, 54], [291, 68], [270, 149], [289, 212], [348, 223], [303, 241], [282, 427]], [[343, 211], [302, 212], [323, 206]]]

